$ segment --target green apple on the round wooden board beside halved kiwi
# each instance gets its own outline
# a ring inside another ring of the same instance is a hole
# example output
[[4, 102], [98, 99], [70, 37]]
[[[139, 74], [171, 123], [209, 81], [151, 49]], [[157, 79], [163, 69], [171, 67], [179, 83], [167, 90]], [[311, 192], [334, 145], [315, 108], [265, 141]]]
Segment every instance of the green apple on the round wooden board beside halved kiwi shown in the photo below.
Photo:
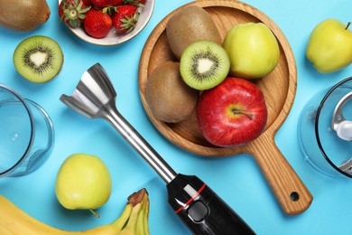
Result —
[[236, 24], [227, 32], [223, 47], [230, 58], [230, 75], [244, 79], [264, 77], [280, 59], [278, 42], [263, 23]]

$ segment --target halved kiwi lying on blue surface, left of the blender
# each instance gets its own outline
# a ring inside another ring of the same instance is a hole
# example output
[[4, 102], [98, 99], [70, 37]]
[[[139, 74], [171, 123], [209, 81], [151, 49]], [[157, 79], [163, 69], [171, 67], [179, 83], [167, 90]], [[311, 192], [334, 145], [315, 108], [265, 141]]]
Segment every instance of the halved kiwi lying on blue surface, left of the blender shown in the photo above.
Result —
[[42, 83], [55, 78], [61, 71], [63, 53], [58, 42], [36, 35], [20, 42], [13, 55], [14, 68], [23, 78]]

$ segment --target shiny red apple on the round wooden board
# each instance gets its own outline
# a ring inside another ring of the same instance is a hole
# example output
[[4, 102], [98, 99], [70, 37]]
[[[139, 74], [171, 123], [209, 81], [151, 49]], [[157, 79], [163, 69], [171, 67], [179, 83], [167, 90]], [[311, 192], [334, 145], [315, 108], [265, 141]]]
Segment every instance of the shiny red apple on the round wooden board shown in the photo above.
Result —
[[260, 136], [267, 120], [262, 90], [255, 83], [227, 77], [202, 92], [196, 108], [202, 135], [214, 146], [242, 146]]

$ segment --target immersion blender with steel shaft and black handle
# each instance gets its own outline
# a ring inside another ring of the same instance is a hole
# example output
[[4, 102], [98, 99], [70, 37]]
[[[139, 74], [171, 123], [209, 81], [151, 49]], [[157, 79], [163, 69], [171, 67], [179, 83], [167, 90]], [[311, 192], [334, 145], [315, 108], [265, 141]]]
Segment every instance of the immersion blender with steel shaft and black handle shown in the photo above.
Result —
[[197, 176], [177, 174], [116, 108], [116, 91], [104, 68], [85, 71], [72, 96], [60, 100], [88, 118], [107, 120], [165, 181], [168, 201], [195, 234], [255, 234], [226, 202]]

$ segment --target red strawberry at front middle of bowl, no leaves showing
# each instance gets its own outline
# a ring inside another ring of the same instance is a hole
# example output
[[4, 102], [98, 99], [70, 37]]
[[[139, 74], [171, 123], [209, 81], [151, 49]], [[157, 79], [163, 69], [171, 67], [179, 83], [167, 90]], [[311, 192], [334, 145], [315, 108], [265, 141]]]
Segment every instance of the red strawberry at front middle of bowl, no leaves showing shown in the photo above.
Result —
[[89, 36], [103, 38], [107, 36], [113, 25], [110, 15], [103, 13], [102, 9], [91, 8], [86, 14], [84, 29]]

